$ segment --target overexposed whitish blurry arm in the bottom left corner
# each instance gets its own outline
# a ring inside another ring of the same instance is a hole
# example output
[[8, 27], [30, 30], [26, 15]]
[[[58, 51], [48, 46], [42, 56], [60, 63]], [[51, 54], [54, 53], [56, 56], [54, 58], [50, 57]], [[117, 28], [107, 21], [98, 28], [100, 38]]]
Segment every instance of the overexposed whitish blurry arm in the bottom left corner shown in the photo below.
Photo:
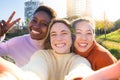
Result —
[[24, 72], [15, 64], [0, 58], [0, 80], [40, 80], [40, 78], [35, 73]]

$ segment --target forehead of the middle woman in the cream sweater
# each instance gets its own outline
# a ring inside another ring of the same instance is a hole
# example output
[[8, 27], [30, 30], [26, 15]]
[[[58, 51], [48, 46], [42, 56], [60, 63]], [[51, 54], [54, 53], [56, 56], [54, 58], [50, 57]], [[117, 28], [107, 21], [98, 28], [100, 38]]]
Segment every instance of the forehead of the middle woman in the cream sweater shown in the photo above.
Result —
[[70, 29], [68, 28], [67, 25], [65, 25], [64, 23], [60, 23], [60, 22], [57, 22], [57, 23], [54, 23], [51, 27], [51, 32], [52, 31], [69, 31], [70, 32]]

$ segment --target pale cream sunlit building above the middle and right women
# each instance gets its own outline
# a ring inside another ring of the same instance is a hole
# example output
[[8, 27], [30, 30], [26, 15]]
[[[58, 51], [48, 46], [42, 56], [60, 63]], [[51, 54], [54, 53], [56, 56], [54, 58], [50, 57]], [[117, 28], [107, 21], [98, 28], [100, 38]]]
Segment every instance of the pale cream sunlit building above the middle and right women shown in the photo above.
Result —
[[91, 16], [90, 0], [67, 0], [67, 17]]

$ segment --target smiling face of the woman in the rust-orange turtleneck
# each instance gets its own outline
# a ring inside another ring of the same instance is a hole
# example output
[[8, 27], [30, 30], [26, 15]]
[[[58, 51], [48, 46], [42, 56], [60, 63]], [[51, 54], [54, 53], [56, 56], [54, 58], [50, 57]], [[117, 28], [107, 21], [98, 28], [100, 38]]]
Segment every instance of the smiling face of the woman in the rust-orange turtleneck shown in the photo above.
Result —
[[93, 44], [94, 41], [94, 33], [92, 29], [92, 25], [89, 22], [78, 22], [75, 25], [75, 35], [76, 39], [74, 42], [74, 47], [79, 52], [87, 51]]

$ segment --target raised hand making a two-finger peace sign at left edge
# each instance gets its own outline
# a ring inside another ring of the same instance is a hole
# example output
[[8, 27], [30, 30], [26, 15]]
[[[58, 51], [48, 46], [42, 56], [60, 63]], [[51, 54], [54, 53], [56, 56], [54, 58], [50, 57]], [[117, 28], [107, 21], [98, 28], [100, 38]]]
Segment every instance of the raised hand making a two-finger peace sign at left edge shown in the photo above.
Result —
[[20, 20], [20, 18], [14, 20], [11, 22], [13, 16], [15, 15], [15, 11], [10, 15], [9, 19], [6, 21], [2, 20], [0, 22], [0, 36], [3, 36], [4, 34], [7, 33], [7, 31], [16, 23]]

